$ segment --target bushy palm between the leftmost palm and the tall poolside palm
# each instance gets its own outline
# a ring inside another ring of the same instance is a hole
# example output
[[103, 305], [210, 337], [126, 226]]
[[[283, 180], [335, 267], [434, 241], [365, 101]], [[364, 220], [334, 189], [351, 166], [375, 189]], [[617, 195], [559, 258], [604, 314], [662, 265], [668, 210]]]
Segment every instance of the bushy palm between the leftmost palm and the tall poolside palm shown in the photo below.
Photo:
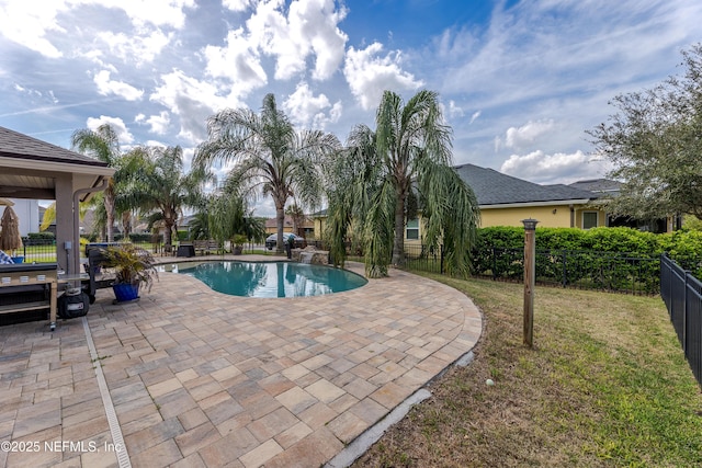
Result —
[[186, 207], [202, 207], [202, 187], [208, 174], [197, 169], [183, 173], [180, 147], [138, 148], [125, 155], [121, 169], [132, 174], [120, 185], [117, 203], [122, 209], [138, 209], [149, 222], [162, 221], [165, 242], [172, 243], [172, 232]]

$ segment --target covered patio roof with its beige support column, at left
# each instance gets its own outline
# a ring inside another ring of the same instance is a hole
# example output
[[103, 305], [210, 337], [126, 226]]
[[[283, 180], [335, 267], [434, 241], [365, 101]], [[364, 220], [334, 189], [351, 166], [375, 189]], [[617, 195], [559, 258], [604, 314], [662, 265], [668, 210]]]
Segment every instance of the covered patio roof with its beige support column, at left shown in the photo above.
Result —
[[0, 196], [56, 201], [56, 260], [68, 273], [80, 266], [78, 203], [113, 174], [105, 162], [0, 127]]

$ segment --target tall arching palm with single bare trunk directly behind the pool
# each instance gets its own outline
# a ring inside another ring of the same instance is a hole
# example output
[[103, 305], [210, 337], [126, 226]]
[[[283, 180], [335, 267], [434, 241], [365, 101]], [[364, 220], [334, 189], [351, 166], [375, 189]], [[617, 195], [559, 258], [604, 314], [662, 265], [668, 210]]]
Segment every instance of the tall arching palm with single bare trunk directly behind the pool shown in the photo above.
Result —
[[263, 99], [260, 114], [249, 109], [225, 110], [207, 121], [208, 139], [195, 156], [203, 168], [235, 162], [228, 178], [240, 193], [254, 190], [273, 197], [278, 224], [278, 252], [283, 251], [285, 204], [295, 196], [315, 207], [321, 194], [320, 161], [336, 151], [336, 136], [320, 130], [296, 132], [275, 105], [273, 94]]

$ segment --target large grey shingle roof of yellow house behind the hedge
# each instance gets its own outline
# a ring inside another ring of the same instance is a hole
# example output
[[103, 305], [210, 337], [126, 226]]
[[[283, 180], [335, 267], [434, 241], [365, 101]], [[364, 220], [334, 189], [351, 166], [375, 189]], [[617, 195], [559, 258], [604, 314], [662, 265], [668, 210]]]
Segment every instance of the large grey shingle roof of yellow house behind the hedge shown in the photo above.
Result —
[[597, 194], [568, 185], [539, 185], [474, 164], [455, 167], [456, 172], [475, 192], [478, 205], [595, 199]]

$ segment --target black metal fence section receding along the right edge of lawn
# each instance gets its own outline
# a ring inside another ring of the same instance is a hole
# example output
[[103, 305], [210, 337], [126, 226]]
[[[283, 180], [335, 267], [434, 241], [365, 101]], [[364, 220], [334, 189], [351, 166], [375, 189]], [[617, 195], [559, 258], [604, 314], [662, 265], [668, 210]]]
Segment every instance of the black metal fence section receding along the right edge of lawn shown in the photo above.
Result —
[[702, 283], [664, 254], [660, 296], [692, 374], [702, 385]]

